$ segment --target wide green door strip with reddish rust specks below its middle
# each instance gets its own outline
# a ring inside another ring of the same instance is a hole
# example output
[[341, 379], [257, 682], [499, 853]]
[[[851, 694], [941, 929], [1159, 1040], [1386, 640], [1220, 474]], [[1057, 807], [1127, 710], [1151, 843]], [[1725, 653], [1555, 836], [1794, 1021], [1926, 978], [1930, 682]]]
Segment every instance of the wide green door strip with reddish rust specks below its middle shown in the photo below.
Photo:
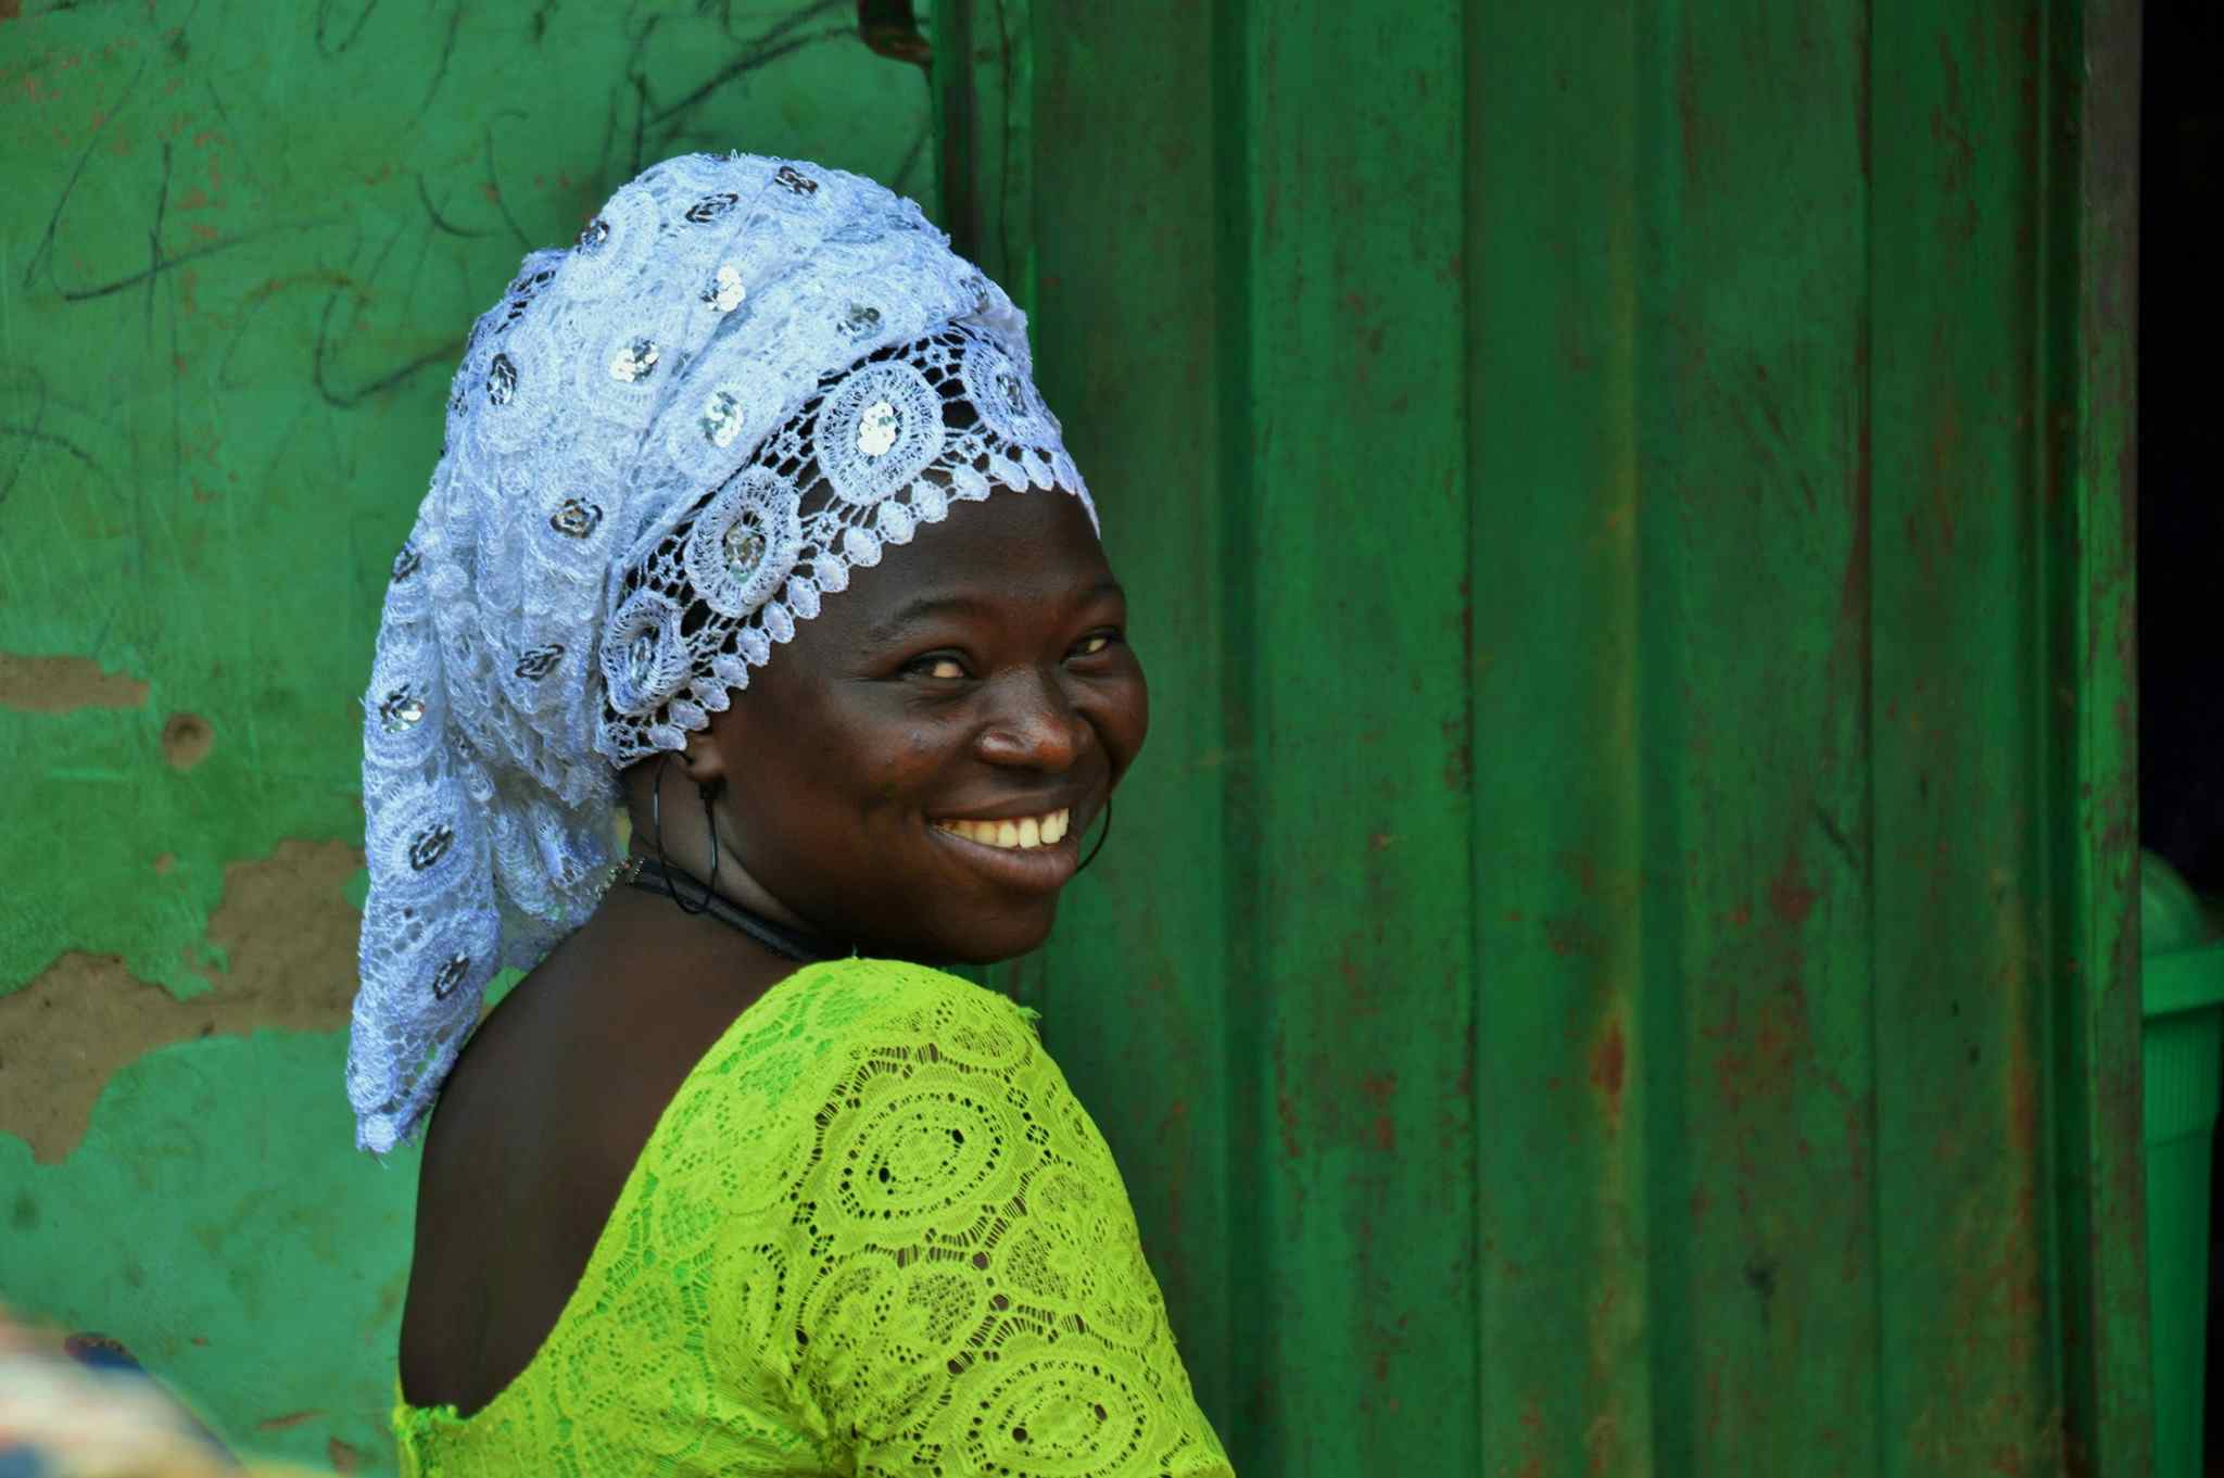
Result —
[[1861, 24], [1639, 33], [1664, 1474], [1875, 1462]]

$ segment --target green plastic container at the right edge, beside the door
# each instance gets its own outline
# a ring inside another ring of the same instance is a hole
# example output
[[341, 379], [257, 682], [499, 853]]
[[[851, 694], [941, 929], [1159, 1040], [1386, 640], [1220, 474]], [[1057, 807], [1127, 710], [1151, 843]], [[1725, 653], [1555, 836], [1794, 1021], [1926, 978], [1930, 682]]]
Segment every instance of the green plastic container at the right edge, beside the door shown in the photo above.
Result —
[[2142, 858], [2146, 1287], [2155, 1340], [2155, 1478], [2202, 1474], [2208, 1147], [2224, 1080], [2224, 940], [2168, 862]]

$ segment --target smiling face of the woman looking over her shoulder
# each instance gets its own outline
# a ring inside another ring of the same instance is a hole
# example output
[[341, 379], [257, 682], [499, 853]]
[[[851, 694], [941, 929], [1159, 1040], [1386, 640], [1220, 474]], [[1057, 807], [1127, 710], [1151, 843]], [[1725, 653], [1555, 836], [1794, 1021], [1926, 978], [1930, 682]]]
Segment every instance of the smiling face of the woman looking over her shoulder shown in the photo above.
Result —
[[1125, 627], [1079, 498], [954, 505], [854, 569], [712, 720], [721, 840], [867, 953], [1034, 949], [1150, 725]]

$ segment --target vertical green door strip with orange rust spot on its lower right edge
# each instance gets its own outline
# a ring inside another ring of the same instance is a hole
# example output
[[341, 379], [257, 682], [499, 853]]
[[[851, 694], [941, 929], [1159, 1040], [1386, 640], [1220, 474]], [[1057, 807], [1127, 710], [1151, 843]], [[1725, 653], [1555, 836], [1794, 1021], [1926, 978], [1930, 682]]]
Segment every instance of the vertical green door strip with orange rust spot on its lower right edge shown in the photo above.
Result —
[[1490, 7], [1481, 27], [1486, 224], [1466, 291], [1481, 318], [1483, 1460], [1641, 1474], [1650, 1045], [1624, 929], [1646, 885], [1635, 20]]

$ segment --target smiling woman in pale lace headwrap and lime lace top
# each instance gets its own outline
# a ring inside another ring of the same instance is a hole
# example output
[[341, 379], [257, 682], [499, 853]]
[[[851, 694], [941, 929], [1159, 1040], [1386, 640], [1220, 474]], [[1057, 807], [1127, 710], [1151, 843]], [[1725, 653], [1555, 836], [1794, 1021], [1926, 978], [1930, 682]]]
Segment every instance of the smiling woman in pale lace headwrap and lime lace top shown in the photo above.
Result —
[[932, 967], [1050, 931], [1143, 742], [1123, 625], [1023, 320], [912, 202], [694, 156], [525, 260], [365, 702], [360, 1145], [438, 1093], [407, 1471], [1230, 1471], [1103, 1138]]

